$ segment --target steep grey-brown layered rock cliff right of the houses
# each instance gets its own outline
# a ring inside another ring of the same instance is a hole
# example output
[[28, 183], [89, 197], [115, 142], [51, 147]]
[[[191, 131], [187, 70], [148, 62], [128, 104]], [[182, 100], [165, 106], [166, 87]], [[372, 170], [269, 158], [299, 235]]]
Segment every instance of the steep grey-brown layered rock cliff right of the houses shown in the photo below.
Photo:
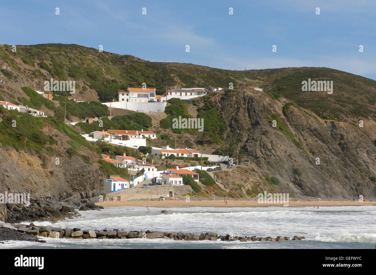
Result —
[[364, 120], [364, 127], [323, 120], [286, 99], [273, 100], [246, 87], [218, 93], [211, 101], [229, 125], [225, 140], [238, 141], [252, 157], [256, 180], [275, 176], [280, 180], [273, 185], [276, 191], [298, 197], [376, 195], [373, 120]]

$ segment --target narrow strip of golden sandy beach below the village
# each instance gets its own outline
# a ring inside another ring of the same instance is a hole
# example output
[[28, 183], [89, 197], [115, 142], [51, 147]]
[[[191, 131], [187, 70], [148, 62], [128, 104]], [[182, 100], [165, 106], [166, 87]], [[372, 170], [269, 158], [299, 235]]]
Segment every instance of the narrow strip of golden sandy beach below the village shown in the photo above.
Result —
[[[261, 204], [257, 201], [227, 201], [227, 204], [223, 200], [209, 200], [209, 201], [193, 201], [186, 202], [184, 200], [177, 201], [103, 201], [102, 203], [96, 203], [103, 207], [115, 207], [115, 206], [148, 206], [148, 207], [268, 207], [268, 206], [280, 206], [283, 204]], [[376, 206], [375, 201], [290, 201], [289, 207], [307, 207], [307, 206]]]

